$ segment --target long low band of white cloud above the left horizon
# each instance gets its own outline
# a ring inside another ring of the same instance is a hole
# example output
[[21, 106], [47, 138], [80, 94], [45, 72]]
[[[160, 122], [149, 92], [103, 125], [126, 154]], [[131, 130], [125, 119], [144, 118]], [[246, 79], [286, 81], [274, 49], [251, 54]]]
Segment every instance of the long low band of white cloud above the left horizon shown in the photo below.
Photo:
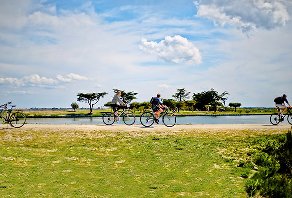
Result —
[[0, 78], [0, 84], [12, 85], [14, 87], [54, 87], [60, 83], [71, 83], [76, 80], [92, 80], [77, 74], [68, 74], [66, 77], [56, 75], [56, 79], [40, 77], [38, 74], [24, 76], [23, 78]]

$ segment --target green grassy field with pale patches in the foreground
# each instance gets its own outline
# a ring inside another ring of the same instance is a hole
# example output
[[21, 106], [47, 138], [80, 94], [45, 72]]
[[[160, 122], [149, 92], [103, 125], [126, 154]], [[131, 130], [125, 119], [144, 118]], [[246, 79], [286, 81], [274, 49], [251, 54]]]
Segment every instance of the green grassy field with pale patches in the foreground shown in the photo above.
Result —
[[244, 198], [238, 167], [287, 131], [0, 130], [1, 198]]

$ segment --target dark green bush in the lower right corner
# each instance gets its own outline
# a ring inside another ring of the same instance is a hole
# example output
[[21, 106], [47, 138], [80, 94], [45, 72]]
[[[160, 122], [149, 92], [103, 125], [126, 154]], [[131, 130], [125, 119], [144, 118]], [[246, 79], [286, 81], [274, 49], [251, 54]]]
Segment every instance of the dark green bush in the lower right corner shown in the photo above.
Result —
[[[292, 134], [267, 142], [253, 158], [258, 171], [246, 181], [250, 197], [292, 198]], [[246, 176], [246, 175], [242, 175]]]

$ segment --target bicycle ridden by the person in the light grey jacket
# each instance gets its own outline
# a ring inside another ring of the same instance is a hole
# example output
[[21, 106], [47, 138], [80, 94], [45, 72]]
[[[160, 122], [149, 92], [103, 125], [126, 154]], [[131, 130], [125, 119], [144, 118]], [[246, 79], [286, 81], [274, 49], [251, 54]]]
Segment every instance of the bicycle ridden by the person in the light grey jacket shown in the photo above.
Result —
[[115, 115], [115, 112], [114, 113], [105, 113], [103, 115], [103, 122], [106, 124], [106, 125], [112, 125], [114, 124], [114, 122], [118, 122], [119, 121], [119, 117], [123, 115], [123, 122], [126, 124], [126, 125], [132, 125], [135, 123], [136, 121], [136, 117], [133, 113], [130, 113], [129, 112], [129, 108], [130, 105], [129, 104], [126, 104], [125, 108], [123, 108], [123, 111], [120, 113], [120, 114], [117, 114], [117, 116]]

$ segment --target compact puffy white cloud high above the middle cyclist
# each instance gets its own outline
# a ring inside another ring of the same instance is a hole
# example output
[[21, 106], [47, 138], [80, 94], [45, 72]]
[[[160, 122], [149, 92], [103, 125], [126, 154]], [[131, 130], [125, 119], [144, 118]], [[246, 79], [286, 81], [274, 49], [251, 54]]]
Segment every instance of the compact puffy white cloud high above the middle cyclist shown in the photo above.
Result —
[[198, 48], [186, 38], [175, 35], [166, 36], [159, 43], [142, 38], [139, 48], [147, 53], [156, 55], [166, 62], [186, 63], [198, 65], [202, 63], [202, 57]]

